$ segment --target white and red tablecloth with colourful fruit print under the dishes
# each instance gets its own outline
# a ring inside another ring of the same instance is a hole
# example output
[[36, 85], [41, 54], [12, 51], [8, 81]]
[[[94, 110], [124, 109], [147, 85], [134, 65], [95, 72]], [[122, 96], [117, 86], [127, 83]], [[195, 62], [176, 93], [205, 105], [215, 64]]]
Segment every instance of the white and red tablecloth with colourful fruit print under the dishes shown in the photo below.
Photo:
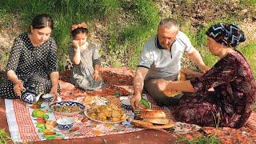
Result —
[[[14, 142], [35, 142], [50, 139], [88, 138], [109, 134], [125, 134], [142, 130], [127, 121], [117, 124], [104, 124], [88, 120], [85, 115], [74, 115], [76, 122], [71, 130], [46, 129], [46, 123], [64, 116], [54, 114], [47, 102], [28, 105], [20, 100], [5, 100], [6, 117]], [[131, 111], [130, 111], [131, 112]]]

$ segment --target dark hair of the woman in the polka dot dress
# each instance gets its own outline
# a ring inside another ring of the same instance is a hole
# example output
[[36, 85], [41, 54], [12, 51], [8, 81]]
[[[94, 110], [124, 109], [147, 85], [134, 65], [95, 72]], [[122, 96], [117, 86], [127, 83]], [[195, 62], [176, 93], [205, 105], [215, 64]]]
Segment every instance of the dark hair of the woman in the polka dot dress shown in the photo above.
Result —
[[54, 30], [54, 21], [48, 14], [38, 14], [33, 18], [31, 26], [34, 29], [50, 27], [51, 30]]

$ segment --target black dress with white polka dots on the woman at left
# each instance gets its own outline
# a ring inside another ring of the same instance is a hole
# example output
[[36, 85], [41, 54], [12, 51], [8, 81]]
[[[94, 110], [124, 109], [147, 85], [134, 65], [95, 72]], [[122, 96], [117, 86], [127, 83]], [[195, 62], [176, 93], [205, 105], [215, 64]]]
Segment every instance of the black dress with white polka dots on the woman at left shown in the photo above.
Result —
[[[49, 93], [51, 89], [50, 73], [58, 71], [57, 46], [49, 38], [40, 46], [33, 46], [28, 33], [14, 39], [6, 71], [14, 70], [23, 86], [35, 85], [36, 92]], [[14, 83], [5, 79], [0, 86], [0, 98], [19, 98], [14, 93]], [[59, 86], [58, 86], [59, 91]]]

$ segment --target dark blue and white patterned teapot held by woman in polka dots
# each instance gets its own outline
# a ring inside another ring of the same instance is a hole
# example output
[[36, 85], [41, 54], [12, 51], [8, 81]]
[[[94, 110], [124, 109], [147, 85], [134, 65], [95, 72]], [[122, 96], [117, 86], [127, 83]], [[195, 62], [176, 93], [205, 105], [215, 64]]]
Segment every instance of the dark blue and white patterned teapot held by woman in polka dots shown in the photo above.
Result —
[[42, 96], [43, 93], [36, 94], [35, 92], [35, 85], [29, 86], [22, 92], [22, 101], [33, 104], [34, 102], [38, 102], [39, 98]]

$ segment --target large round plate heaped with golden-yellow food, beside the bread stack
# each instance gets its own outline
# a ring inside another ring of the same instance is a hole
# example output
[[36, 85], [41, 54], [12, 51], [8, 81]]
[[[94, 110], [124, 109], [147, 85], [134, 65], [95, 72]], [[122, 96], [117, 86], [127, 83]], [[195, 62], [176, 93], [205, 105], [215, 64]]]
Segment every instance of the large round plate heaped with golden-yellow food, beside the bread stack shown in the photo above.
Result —
[[125, 110], [113, 103], [107, 105], [92, 105], [85, 110], [86, 117], [94, 122], [119, 123], [128, 118]]

